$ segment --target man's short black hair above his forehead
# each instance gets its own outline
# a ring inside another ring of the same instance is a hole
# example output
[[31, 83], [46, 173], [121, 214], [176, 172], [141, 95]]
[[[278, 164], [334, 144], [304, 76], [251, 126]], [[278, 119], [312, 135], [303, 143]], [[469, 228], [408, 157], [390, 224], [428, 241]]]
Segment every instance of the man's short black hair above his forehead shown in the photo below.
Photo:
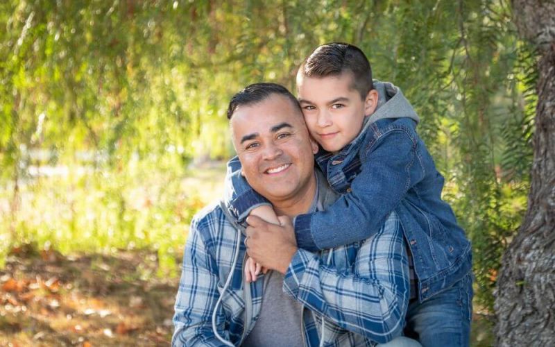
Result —
[[253, 103], [258, 103], [268, 99], [269, 96], [273, 94], [278, 94], [285, 96], [291, 103], [293, 107], [298, 108], [300, 112], [300, 105], [296, 97], [287, 90], [286, 87], [278, 85], [277, 83], [254, 83], [248, 85], [244, 90], [235, 94], [230, 101], [228, 106], [228, 119], [233, 117], [235, 110], [239, 105], [252, 105]]

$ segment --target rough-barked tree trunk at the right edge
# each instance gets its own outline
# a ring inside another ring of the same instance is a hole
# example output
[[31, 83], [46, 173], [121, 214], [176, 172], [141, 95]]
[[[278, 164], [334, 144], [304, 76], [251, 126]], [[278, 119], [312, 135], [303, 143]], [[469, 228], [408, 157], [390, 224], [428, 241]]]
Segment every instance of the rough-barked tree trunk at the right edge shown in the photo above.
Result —
[[555, 1], [513, 0], [519, 33], [540, 53], [528, 210], [495, 291], [498, 346], [555, 346]]

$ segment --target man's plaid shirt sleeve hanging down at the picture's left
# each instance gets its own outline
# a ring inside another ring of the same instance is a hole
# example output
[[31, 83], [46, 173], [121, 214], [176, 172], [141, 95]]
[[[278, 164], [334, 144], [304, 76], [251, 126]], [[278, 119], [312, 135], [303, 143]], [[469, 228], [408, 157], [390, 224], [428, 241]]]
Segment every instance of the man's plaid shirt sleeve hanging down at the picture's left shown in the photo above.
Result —
[[[172, 346], [223, 346], [212, 331], [212, 311], [219, 298], [216, 261], [199, 231], [213, 227], [214, 223], [210, 216], [205, 216], [200, 225], [198, 221], [191, 222], [174, 307]], [[223, 331], [223, 310], [219, 311], [218, 333], [228, 339]]]

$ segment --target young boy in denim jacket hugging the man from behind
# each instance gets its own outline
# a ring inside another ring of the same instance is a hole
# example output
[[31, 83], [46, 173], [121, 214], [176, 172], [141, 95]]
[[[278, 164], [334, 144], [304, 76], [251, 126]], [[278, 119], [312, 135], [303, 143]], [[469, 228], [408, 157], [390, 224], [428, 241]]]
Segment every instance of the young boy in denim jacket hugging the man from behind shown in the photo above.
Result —
[[[319, 251], [366, 239], [394, 210], [411, 262], [405, 335], [422, 346], [468, 346], [470, 242], [441, 199], [443, 176], [416, 134], [418, 115], [397, 87], [373, 84], [368, 59], [350, 44], [315, 49], [298, 70], [297, 87], [321, 146], [318, 167], [343, 194], [327, 210], [294, 219], [298, 247]], [[248, 187], [237, 160], [228, 164], [228, 180], [228, 207], [239, 221], [249, 213], [269, 218], [268, 203]]]

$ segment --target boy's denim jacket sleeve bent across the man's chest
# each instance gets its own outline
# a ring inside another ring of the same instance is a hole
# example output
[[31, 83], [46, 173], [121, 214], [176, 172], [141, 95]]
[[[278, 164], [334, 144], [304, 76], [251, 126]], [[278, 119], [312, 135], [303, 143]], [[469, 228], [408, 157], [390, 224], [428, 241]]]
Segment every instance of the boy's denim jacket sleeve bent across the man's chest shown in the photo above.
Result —
[[359, 152], [361, 171], [326, 210], [294, 221], [299, 248], [309, 251], [350, 244], [373, 235], [410, 187], [424, 177], [416, 133], [396, 126]]

